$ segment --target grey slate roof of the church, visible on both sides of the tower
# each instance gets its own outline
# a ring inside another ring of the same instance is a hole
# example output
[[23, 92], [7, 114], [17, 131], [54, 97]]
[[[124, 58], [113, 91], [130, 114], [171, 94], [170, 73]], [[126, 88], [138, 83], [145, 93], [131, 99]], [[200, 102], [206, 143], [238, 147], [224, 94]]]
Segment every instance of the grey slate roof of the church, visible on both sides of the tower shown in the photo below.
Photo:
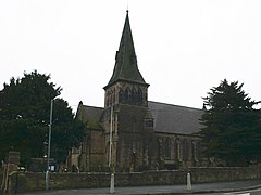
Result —
[[[202, 127], [199, 121], [202, 109], [152, 101], [148, 102], [148, 107], [153, 117], [156, 132], [194, 134]], [[88, 127], [99, 129], [104, 108], [87, 105], [83, 105], [83, 108]]]

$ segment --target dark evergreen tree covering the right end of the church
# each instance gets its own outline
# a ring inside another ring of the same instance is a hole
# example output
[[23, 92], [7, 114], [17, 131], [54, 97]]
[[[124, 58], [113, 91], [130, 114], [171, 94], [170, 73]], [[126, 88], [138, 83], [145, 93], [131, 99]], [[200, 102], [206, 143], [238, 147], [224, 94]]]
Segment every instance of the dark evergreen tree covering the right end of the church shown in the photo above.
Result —
[[261, 157], [260, 110], [253, 108], [260, 102], [251, 101], [243, 86], [224, 79], [203, 98], [201, 134], [206, 153], [227, 166], [246, 166]]

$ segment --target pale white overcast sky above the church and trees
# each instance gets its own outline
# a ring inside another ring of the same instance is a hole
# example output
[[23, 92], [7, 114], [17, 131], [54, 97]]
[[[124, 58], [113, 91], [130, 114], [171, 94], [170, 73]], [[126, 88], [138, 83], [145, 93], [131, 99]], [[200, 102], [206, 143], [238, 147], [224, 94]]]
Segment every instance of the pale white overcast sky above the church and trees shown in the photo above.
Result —
[[102, 107], [127, 8], [150, 101], [201, 108], [224, 78], [261, 100], [260, 0], [0, 0], [0, 90], [36, 69]]

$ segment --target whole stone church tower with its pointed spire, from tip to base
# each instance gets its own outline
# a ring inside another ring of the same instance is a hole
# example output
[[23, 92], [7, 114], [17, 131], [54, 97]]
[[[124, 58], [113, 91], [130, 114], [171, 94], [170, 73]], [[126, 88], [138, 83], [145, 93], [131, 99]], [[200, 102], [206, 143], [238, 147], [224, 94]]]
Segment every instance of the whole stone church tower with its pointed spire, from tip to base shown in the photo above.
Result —
[[153, 119], [148, 108], [148, 87], [138, 69], [127, 11], [114, 70], [103, 88], [104, 154], [115, 170], [136, 171], [150, 166]]

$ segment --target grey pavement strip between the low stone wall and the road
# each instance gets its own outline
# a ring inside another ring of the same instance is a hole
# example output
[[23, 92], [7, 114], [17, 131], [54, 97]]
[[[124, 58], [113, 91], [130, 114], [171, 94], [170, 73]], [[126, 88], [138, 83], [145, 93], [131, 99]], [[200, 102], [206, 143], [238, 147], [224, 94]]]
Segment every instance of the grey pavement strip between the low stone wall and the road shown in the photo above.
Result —
[[[171, 195], [171, 194], [208, 194], [208, 193], [228, 193], [261, 188], [261, 180], [251, 181], [235, 181], [235, 182], [220, 182], [220, 183], [201, 183], [191, 184], [191, 190], [187, 190], [187, 185], [164, 185], [164, 186], [130, 186], [130, 187], [116, 187], [113, 194], [122, 195]], [[80, 188], [80, 190], [57, 190], [26, 193], [23, 195], [105, 195], [110, 194], [110, 188]]]

